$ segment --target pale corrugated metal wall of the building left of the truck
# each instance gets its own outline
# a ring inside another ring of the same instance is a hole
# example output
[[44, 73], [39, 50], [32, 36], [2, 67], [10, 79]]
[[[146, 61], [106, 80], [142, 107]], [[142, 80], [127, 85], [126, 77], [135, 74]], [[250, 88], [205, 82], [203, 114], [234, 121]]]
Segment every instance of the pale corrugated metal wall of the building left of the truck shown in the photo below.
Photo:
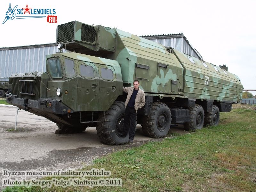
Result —
[[56, 45], [0, 50], [0, 80], [9, 81], [13, 73], [45, 71], [45, 55], [56, 52]]

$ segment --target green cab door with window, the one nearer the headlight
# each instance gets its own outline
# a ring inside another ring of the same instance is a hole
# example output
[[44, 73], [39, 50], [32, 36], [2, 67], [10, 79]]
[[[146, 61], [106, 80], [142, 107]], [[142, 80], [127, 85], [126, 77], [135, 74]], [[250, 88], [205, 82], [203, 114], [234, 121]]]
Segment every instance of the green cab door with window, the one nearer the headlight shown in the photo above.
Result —
[[97, 111], [99, 102], [98, 69], [91, 62], [77, 62], [79, 71], [77, 104], [81, 111]]

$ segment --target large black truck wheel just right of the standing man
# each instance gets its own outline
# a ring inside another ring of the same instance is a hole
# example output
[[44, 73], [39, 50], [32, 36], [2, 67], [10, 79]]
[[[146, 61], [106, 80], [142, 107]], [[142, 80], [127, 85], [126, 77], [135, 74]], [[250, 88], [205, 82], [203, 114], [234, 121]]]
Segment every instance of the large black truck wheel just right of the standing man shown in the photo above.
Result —
[[142, 118], [142, 131], [149, 137], [161, 138], [169, 132], [171, 122], [170, 108], [164, 103], [153, 102], [150, 115]]

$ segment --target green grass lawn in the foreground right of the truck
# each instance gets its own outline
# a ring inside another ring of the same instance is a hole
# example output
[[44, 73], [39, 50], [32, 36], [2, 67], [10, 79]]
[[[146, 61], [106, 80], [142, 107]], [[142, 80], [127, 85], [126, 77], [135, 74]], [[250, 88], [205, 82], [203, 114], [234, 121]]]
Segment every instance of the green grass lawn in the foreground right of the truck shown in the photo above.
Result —
[[109, 178], [121, 178], [122, 187], [12, 187], [5, 191], [255, 192], [256, 111], [238, 108], [221, 113], [220, 118], [216, 127], [118, 151], [84, 167], [111, 171]]

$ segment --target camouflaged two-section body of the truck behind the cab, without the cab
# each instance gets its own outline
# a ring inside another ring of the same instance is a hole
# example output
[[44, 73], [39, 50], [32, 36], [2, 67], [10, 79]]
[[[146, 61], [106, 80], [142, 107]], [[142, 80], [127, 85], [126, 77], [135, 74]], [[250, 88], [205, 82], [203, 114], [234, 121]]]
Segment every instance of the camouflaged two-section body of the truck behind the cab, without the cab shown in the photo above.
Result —
[[[219, 72], [208, 62], [204, 61], [208, 66], [206, 68], [201, 60], [189, 56], [195, 61], [195, 64], [191, 63], [184, 53], [176, 50], [169, 53], [161, 44], [120, 29], [94, 27], [98, 28], [99, 36], [104, 36], [104, 40], [99, 37], [98, 44], [114, 44], [115, 39], [115, 52], [107, 54], [106, 58], [119, 63], [122, 81], [128, 84], [126, 86], [132, 85], [133, 80], [137, 79], [148, 94], [171, 94], [173, 97], [184, 95], [186, 98], [233, 102], [240, 99], [241, 82], [229, 72], [225, 75], [217, 66]], [[78, 28], [76, 30], [79, 33]], [[107, 33], [103, 34], [102, 31]], [[167, 67], [159, 66], [159, 63]]]

